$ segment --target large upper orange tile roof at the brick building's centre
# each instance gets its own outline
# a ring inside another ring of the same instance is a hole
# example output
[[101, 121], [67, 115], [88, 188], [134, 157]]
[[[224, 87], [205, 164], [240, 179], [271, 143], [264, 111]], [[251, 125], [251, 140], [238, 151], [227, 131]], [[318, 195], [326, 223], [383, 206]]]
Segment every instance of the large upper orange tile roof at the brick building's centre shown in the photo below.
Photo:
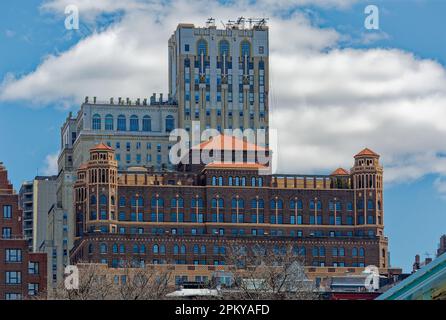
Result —
[[200, 143], [192, 149], [199, 150], [234, 150], [234, 151], [267, 151], [268, 149], [250, 143], [234, 136], [219, 135], [210, 140]]

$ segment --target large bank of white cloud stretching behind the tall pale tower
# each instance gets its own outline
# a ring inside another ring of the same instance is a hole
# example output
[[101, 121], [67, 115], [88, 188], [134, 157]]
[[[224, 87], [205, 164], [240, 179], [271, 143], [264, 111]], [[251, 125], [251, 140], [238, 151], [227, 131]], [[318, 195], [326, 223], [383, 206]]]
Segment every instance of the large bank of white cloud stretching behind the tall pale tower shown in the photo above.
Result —
[[[61, 14], [73, 2], [52, 0], [42, 8]], [[312, 4], [342, 9], [353, 2]], [[136, 98], [165, 92], [167, 40], [179, 22], [202, 25], [215, 13], [216, 21], [266, 13], [271, 18], [271, 128], [279, 130], [280, 171], [349, 168], [353, 155], [367, 146], [382, 155], [387, 182], [446, 176], [444, 66], [398, 49], [340, 49], [344, 35], [336, 30], [318, 27], [301, 10], [281, 14], [282, 8], [306, 5], [306, 0], [276, 5], [263, 0], [256, 6], [249, 1], [77, 3], [81, 18], [89, 12], [92, 21], [102, 13], [125, 14], [66, 52], [48, 56], [34, 72], [9, 75], [0, 99], [77, 107], [87, 95]]]

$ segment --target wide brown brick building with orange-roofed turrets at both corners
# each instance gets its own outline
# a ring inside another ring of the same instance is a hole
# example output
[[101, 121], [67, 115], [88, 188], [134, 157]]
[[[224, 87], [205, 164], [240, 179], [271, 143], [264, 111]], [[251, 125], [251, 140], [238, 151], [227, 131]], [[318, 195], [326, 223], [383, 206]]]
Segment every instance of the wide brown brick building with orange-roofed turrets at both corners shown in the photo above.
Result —
[[92, 148], [74, 185], [71, 261], [216, 266], [234, 245], [292, 246], [313, 272], [387, 272], [383, 170], [373, 151], [326, 176], [264, 175], [258, 163], [181, 168], [118, 171], [112, 148]]

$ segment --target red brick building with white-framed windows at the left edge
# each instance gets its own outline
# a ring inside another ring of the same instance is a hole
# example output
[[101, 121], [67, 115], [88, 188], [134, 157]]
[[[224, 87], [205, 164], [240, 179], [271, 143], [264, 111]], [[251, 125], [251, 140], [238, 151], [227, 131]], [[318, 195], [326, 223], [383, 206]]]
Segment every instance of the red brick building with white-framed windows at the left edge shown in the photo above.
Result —
[[19, 198], [0, 163], [0, 299], [25, 299], [46, 293], [46, 254], [29, 251]]

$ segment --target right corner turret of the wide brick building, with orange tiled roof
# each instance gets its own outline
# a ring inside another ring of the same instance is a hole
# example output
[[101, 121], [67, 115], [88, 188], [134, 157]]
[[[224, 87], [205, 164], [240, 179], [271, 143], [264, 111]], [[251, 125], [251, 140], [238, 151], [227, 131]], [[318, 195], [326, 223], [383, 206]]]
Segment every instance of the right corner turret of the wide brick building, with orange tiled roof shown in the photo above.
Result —
[[[370, 232], [377, 236], [384, 234], [383, 210], [383, 167], [379, 154], [365, 148], [355, 155], [355, 165], [351, 169], [354, 189], [355, 224], [370, 226]], [[387, 266], [387, 243], [380, 246], [380, 268]]]

